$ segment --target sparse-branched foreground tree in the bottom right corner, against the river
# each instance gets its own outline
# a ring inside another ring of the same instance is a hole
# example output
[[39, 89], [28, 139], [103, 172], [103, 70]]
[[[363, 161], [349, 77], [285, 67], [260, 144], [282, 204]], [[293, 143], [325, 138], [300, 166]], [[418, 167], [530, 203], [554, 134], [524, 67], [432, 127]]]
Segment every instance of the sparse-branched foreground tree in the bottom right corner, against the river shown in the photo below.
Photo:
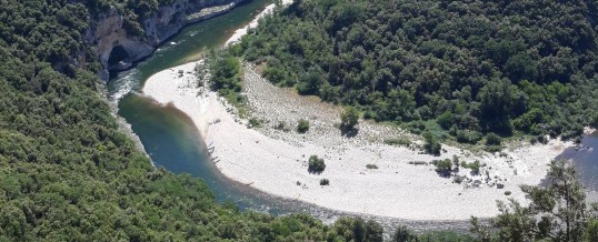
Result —
[[[512, 199], [509, 204], [498, 202], [500, 214], [491, 220], [498, 240], [582, 241], [584, 236], [594, 236], [589, 232], [596, 230], [596, 213], [587, 208], [586, 193], [575, 169], [564, 160], [555, 160], [547, 180], [550, 184], [546, 188], [521, 186], [530, 200], [529, 206]], [[479, 224], [474, 224], [477, 231], [482, 231]]]

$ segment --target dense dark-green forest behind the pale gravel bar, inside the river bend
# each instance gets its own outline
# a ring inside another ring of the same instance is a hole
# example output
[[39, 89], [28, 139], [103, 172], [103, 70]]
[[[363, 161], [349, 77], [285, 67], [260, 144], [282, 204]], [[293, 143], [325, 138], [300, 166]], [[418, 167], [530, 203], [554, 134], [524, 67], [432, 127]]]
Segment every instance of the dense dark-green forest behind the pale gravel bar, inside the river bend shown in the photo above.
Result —
[[598, 3], [295, 1], [235, 50], [366, 119], [478, 143], [597, 125]]

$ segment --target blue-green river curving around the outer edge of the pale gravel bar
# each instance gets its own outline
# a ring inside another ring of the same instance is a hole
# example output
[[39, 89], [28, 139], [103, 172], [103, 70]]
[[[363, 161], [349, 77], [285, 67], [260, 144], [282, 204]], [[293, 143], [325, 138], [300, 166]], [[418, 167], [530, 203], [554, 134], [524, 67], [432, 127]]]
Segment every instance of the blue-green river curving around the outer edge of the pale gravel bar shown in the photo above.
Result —
[[[131, 124], [132, 131], [140, 138], [157, 167], [201, 178], [220, 202], [232, 201], [241, 210], [250, 209], [275, 215], [307, 212], [325, 222], [333, 221], [340, 215], [352, 215], [272, 196], [225, 178], [209, 161], [206, 145], [187, 115], [172, 107], [158, 105], [139, 94], [150, 75], [196, 61], [209, 49], [221, 47], [235, 30], [249, 23], [270, 2], [271, 0], [248, 1], [227, 14], [183, 28], [179, 34], [166, 41], [151, 57], [137, 63], [133, 69], [113, 73], [108, 83], [110, 98], [118, 102], [118, 114]], [[596, 162], [594, 163], [596, 165]], [[416, 222], [379, 216], [366, 216], [366, 219], [375, 219], [386, 229], [408, 224], [416, 230], [464, 230], [469, 224], [468, 221]]]

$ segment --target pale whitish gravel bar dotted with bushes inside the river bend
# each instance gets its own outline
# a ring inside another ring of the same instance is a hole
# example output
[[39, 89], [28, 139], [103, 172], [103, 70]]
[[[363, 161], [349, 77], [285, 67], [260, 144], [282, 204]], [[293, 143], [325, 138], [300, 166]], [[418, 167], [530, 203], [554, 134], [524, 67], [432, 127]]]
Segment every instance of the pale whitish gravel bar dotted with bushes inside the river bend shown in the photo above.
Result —
[[[143, 93], [187, 113], [208, 144], [218, 169], [228, 178], [258, 190], [333, 210], [409, 220], [467, 220], [470, 215], [497, 214], [496, 200], [524, 201], [520, 184], [537, 184], [547, 164], [570, 142], [551, 140], [547, 145], [524, 145], [501, 153], [472, 154], [446, 147], [440, 157], [420, 153], [421, 143], [401, 130], [361, 122], [352, 138], [342, 137], [336, 124], [339, 108], [300, 97], [261, 79], [245, 67], [245, 90], [250, 113], [262, 128], [249, 129], [235, 115], [235, 108], [216, 93], [197, 87], [196, 64], [183, 64], [152, 75]], [[310, 130], [298, 134], [298, 119], [310, 120]], [[290, 131], [275, 129], [280, 121]], [[407, 137], [411, 148], [383, 144], [388, 138]], [[312, 174], [307, 159], [319, 155], [326, 170]], [[475, 160], [486, 164], [480, 174], [460, 169], [462, 183], [438, 175], [432, 160]], [[375, 164], [378, 169], [367, 169]], [[319, 185], [320, 179], [330, 185]], [[505, 192], [510, 191], [510, 195]]]

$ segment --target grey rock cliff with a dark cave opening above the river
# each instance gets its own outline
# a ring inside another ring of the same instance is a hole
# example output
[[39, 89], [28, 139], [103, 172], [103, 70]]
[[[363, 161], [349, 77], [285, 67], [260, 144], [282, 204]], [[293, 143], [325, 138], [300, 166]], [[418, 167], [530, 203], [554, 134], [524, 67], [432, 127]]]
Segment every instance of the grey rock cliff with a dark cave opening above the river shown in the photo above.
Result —
[[229, 11], [243, 0], [175, 0], [159, 7], [158, 11], [143, 21], [144, 36], [127, 32], [123, 17], [116, 9], [91, 20], [86, 40], [94, 46], [107, 79], [109, 70], [126, 70], [148, 57], [166, 39], [176, 34], [186, 24]]

